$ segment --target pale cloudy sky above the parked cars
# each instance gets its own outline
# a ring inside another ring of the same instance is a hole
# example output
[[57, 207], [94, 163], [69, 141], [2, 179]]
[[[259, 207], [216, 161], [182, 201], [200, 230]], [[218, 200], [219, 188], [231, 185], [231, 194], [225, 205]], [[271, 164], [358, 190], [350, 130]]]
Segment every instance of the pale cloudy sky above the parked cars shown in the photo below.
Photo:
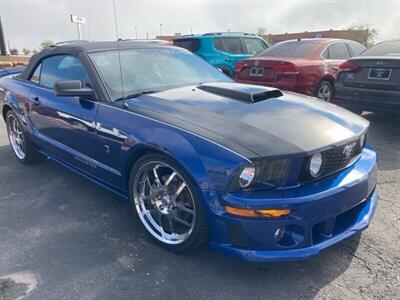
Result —
[[[268, 33], [344, 29], [369, 24], [376, 41], [400, 38], [400, 0], [115, 0], [120, 38], [240, 31]], [[112, 0], [0, 0], [6, 43], [11, 48], [37, 49], [44, 40], [77, 39], [70, 14], [83, 16], [83, 39], [115, 40]]]

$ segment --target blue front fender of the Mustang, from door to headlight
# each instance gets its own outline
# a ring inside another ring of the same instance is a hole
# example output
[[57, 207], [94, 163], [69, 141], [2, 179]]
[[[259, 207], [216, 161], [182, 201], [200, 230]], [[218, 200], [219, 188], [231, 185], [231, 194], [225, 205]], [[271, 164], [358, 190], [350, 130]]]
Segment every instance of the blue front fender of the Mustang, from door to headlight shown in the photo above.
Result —
[[118, 129], [124, 137], [118, 142], [122, 157], [115, 157], [124, 178], [129, 177], [126, 167], [132, 157], [137, 159], [143, 149], [157, 149], [179, 163], [199, 189], [223, 191], [232, 172], [246, 161], [197, 134], [115, 106], [100, 105], [97, 122]]

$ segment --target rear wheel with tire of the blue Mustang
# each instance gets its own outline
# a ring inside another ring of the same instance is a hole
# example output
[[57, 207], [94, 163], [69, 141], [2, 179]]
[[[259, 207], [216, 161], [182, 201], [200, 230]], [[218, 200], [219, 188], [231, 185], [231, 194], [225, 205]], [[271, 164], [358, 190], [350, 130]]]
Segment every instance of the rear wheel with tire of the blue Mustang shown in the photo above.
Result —
[[9, 110], [6, 114], [8, 140], [17, 160], [22, 164], [32, 164], [37, 160], [38, 154], [34, 145], [24, 132], [17, 114]]

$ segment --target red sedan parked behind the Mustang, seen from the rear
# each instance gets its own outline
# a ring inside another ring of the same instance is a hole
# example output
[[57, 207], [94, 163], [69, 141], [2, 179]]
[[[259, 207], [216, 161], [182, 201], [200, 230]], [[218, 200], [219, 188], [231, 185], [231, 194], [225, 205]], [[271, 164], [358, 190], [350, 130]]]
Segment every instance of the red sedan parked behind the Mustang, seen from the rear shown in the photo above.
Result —
[[239, 61], [235, 80], [331, 101], [339, 65], [364, 50], [363, 45], [342, 39], [280, 42], [255, 57]]

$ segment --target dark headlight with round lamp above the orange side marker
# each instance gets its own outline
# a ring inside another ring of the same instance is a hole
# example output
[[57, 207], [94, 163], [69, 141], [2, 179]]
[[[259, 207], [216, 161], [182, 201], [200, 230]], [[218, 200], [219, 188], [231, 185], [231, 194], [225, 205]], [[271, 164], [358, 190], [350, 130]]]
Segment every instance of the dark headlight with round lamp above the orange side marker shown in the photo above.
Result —
[[279, 187], [286, 178], [289, 160], [260, 160], [243, 166], [231, 180], [230, 191]]

